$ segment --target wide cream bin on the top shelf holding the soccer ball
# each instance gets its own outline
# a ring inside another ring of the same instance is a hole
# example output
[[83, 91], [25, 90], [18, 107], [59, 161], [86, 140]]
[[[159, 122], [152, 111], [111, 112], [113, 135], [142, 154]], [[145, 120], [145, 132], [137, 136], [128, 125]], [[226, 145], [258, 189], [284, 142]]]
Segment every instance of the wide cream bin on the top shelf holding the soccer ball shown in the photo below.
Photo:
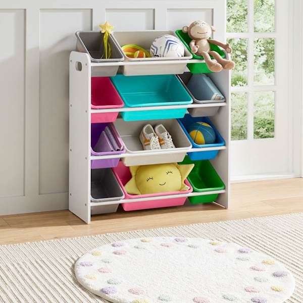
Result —
[[[119, 45], [121, 52], [122, 46], [135, 44], [144, 48], [148, 53], [154, 40], [162, 35], [176, 36], [170, 30], [136, 30], [136, 31], [115, 31], [113, 37]], [[181, 74], [186, 67], [185, 60], [191, 59], [191, 53], [184, 47], [184, 57], [157, 57], [157, 58], [128, 58], [124, 53], [126, 61], [137, 62], [135, 65], [121, 66], [122, 72], [127, 76], [136, 75], [164, 75], [164, 74]], [[177, 62], [168, 63], [175, 60]]]

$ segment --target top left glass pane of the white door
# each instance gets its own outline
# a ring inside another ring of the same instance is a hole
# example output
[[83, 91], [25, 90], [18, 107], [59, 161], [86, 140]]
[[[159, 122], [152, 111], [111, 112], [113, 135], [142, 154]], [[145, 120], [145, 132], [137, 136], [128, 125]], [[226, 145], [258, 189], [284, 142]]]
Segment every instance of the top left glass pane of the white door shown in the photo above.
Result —
[[227, 0], [228, 33], [243, 33], [247, 27], [247, 0]]

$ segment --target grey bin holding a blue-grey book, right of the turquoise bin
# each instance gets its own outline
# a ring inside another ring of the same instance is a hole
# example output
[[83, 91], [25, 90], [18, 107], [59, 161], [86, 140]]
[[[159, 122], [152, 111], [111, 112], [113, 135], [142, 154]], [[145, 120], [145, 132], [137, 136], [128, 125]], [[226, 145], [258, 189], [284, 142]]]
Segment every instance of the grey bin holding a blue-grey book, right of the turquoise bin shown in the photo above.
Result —
[[[187, 87], [187, 84], [190, 80], [190, 78], [194, 76], [197, 79], [195, 79], [195, 85], [194, 88], [190, 89]], [[204, 74], [192, 74], [190, 72], [185, 72], [183, 74], [177, 75], [180, 82], [183, 84], [189, 95], [191, 96], [193, 103], [222, 103], [225, 102], [225, 98], [221, 100], [208, 100], [201, 98], [201, 95], [203, 95], [203, 91], [208, 89], [208, 87], [201, 87], [201, 85], [206, 86], [206, 83], [203, 81], [199, 81], [200, 76], [205, 76]], [[208, 78], [209, 79], [209, 78]], [[211, 92], [210, 92], [211, 93]], [[204, 107], [204, 108], [192, 108], [188, 109], [188, 113], [192, 117], [210, 117], [217, 114], [219, 110], [219, 106], [213, 106], [213, 107]]]

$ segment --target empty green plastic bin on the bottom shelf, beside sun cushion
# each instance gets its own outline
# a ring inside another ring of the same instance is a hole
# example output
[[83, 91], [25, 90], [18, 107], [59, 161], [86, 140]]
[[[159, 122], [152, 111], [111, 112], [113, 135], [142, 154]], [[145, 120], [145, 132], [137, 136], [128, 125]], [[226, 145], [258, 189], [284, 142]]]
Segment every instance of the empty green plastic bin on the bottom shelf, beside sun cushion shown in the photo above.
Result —
[[[187, 179], [191, 184], [194, 192], [203, 192], [211, 190], [222, 190], [225, 185], [216, 170], [208, 160], [191, 161], [189, 157], [185, 157], [183, 162], [179, 164], [194, 164], [194, 168], [188, 175]], [[210, 203], [216, 201], [218, 193], [188, 197], [190, 203]]]

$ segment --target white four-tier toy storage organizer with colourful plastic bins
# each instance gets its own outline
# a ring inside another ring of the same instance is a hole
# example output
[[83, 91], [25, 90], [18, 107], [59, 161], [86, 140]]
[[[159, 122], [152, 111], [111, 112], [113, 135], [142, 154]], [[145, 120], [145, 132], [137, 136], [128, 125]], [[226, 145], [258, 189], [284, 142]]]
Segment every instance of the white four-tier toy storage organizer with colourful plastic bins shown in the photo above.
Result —
[[[98, 32], [94, 34], [99, 35]], [[155, 31], [154, 36], [157, 34]], [[150, 37], [148, 33], [146, 39]], [[120, 45], [124, 43], [122, 38], [123, 35], [118, 33], [114, 36]], [[107, 62], [98, 61], [101, 51], [95, 45], [91, 47], [92, 51], [85, 50], [78, 42], [77, 49], [81, 52], [72, 52], [70, 56], [70, 211], [89, 223], [92, 214], [115, 212], [119, 204], [125, 211], [131, 211], [181, 206], [188, 198], [190, 204], [216, 201], [227, 208], [230, 72], [208, 75], [225, 99], [205, 100], [200, 98], [201, 93], [194, 85], [187, 87], [189, 79], [192, 77], [195, 81], [199, 75], [182, 74], [188, 63], [201, 64], [190, 56], [187, 58], [187, 53], [182, 60], [124, 58], [119, 61], [117, 51], [116, 60]], [[81, 69], [77, 68], [79, 63]], [[113, 77], [116, 73], [113, 74], [113, 68], [124, 75]], [[163, 75], [153, 75], [157, 69]], [[146, 75], [147, 72], [151, 75]], [[126, 75], [136, 75], [137, 78]], [[132, 85], [132, 79], [136, 85]], [[192, 117], [185, 114], [186, 111], [200, 117]], [[117, 118], [119, 112], [123, 118]], [[205, 115], [209, 118], [202, 117]], [[196, 121], [213, 126], [216, 132], [214, 144], [193, 142], [186, 128]], [[162, 123], [176, 148], [143, 150], [139, 132], [147, 123], [153, 126]], [[195, 164], [185, 181], [189, 190], [150, 195], [131, 195], [125, 191], [124, 185], [130, 178], [128, 166], [171, 162]]]

